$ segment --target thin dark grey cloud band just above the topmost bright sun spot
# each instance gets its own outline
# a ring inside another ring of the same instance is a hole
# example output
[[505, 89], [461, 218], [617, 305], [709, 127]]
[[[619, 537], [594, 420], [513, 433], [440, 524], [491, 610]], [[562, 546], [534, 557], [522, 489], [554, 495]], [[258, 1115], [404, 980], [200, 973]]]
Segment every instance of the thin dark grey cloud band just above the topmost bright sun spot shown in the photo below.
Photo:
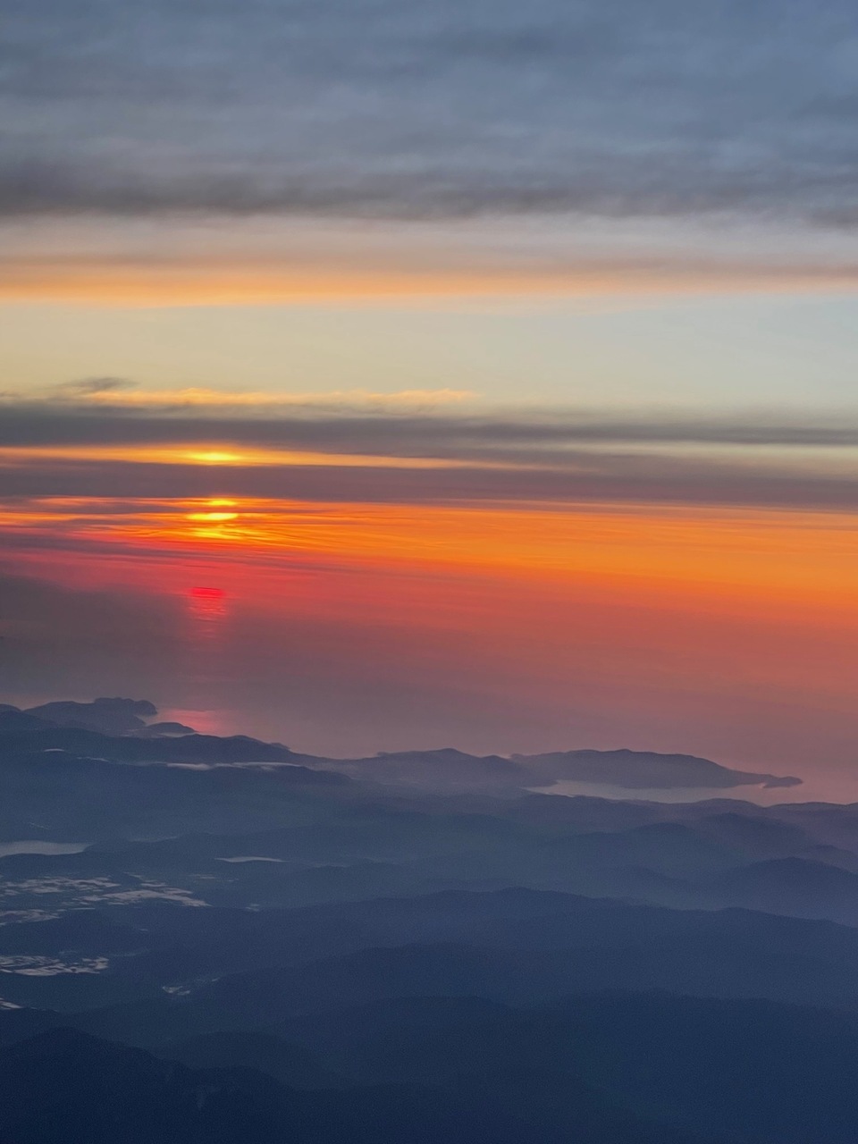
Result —
[[[96, 391], [122, 388], [120, 379], [73, 383]], [[97, 411], [69, 404], [7, 400], [0, 404], [0, 446], [164, 445], [224, 443], [318, 450], [358, 455], [446, 458], [460, 461], [514, 460], [526, 451], [532, 461], [551, 458], [551, 450], [596, 445], [722, 445], [804, 448], [858, 446], [858, 420], [848, 414], [801, 419], [780, 415], [704, 414], [599, 415], [571, 410], [505, 414], [340, 414], [317, 413], [311, 405], [299, 415], [283, 412], [257, 416], [235, 412], [189, 413], [181, 406], [161, 414], [134, 408]]]

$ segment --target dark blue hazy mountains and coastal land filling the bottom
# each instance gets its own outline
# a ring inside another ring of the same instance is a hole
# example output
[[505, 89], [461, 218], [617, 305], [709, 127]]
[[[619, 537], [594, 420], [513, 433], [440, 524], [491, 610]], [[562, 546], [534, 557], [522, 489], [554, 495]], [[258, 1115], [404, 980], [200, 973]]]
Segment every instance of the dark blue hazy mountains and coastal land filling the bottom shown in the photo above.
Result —
[[858, 807], [0, 708], [0, 1144], [855, 1144]]

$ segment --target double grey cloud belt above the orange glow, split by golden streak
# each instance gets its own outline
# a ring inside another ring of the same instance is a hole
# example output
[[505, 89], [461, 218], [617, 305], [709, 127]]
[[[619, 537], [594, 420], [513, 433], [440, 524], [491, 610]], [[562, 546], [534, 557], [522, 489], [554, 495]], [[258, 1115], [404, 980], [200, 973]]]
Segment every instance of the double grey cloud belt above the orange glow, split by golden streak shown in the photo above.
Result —
[[[39, 446], [273, 446], [331, 454], [328, 463], [200, 466], [45, 458]], [[327, 415], [219, 419], [7, 405], [0, 495], [264, 496], [398, 503], [622, 501], [858, 509], [858, 423], [763, 418], [597, 419]], [[364, 466], [343, 466], [343, 454]], [[387, 467], [373, 456], [406, 463]], [[436, 467], [408, 467], [434, 458]], [[482, 463], [480, 463], [482, 462]], [[470, 467], [469, 467], [470, 466]]]

